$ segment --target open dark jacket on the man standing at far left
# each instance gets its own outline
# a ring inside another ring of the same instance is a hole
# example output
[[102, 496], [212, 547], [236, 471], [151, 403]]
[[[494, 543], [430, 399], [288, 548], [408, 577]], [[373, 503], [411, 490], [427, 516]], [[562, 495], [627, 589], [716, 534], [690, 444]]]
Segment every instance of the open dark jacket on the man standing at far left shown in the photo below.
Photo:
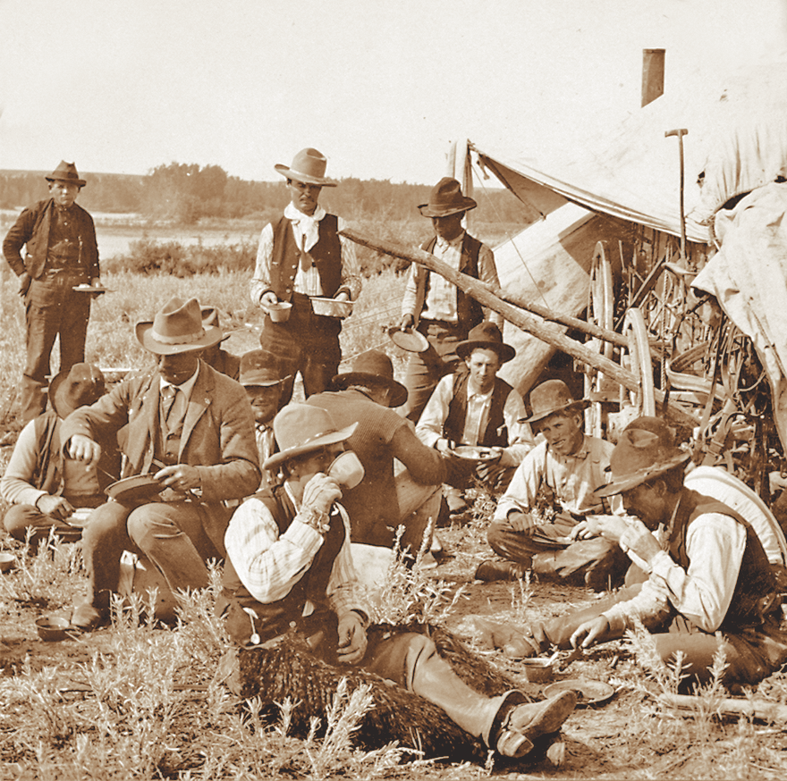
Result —
[[[80, 265], [87, 269], [89, 279], [97, 279], [100, 274], [93, 218], [77, 204], [71, 209], [80, 234]], [[6, 234], [3, 254], [17, 276], [27, 272], [36, 280], [43, 273], [49, 250], [49, 225], [54, 212], [55, 201], [52, 198], [38, 201], [35, 206], [22, 211]], [[22, 260], [21, 248], [25, 246], [27, 253]]]

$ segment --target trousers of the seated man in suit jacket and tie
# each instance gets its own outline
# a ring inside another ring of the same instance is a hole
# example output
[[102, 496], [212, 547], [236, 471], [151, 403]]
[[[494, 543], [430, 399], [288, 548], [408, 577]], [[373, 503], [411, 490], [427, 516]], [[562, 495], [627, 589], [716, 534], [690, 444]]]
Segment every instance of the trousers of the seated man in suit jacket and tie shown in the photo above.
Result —
[[207, 533], [209, 510], [197, 502], [152, 502], [129, 508], [115, 501], [96, 508], [82, 535], [88, 602], [106, 609], [117, 591], [123, 550], [147, 557], [170, 591], [206, 588], [206, 561], [222, 558]]

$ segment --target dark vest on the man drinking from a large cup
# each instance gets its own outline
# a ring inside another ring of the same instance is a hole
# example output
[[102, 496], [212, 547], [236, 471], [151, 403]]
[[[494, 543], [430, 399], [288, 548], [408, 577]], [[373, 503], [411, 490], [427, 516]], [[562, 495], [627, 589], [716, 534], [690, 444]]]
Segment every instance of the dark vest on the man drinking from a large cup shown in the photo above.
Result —
[[[276, 525], [279, 527], [279, 534], [286, 532], [292, 524], [296, 511], [290, 497], [284, 490], [284, 486], [276, 486], [272, 491], [270, 489], [259, 491], [255, 496], [265, 504], [271, 515], [274, 516]], [[235, 572], [233, 562], [227, 558], [224, 562], [224, 589], [217, 608], [221, 605], [223, 609], [226, 609], [227, 631], [233, 640], [235, 642], [248, 641], [252, 634], [253, 620], [254, 631], [259, 634], [261, 642], [265, 642], [267, 639], [285, 632], [291, 622], [298, 621], [303, 615], [303, 608], [307, 601], [311, 601], [316, 609], [325, 607], [328, 581], [334, 568], [334, 560], [342, 550], [344, 537], [342, 516], [338, 509], [334, 508], [334, 512], [331, 514], [330, 531], [326, 534], [322, 547], [312, 559], [309, 568], [300, 581], [292, 587], [290, 593], [283, 599], [269, 604], [259, 602], [251, 596]], [[238, 613], [243, 608], [254, 610], [257, 618], [250, 617], [249, 614], [242, 611], [243, 615], [239, 622], [237, 620]]]

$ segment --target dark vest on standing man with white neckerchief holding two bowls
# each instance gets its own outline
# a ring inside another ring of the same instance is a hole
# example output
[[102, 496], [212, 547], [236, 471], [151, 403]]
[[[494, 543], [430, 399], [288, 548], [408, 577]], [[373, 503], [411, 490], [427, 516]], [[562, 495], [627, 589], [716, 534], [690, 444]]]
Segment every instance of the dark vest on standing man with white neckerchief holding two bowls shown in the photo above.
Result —
[[[334, 298], [342, 284], [342, 245], [339, 242], [339, 220], [326, 214], [319, 222], [317, 244], [309, 249], [317, 267], [323, 295]], [[300, 263], [300, 248], [295, 243], [290, 220], [282, 217], [274, 225], [274, 249], [271, 256], [271, 290], [283, 301], [292, 299], [295, 273]]]

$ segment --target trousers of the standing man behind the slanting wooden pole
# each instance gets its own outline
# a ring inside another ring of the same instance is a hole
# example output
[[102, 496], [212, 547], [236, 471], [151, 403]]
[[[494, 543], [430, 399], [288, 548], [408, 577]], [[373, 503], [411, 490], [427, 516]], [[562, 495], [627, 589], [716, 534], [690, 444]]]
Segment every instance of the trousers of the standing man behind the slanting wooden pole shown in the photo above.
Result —
[[440, 379], [460, 367], [456, 345], [468, 335], [467, 329], [438, 320], [420, 321], [418, 331], [427, 337], [429, 347], [422, 353], [410, 353], [403, 382], [407, 388], [407, 402], [402, 407], [402, 414], [413, 423], [419, 422]]

